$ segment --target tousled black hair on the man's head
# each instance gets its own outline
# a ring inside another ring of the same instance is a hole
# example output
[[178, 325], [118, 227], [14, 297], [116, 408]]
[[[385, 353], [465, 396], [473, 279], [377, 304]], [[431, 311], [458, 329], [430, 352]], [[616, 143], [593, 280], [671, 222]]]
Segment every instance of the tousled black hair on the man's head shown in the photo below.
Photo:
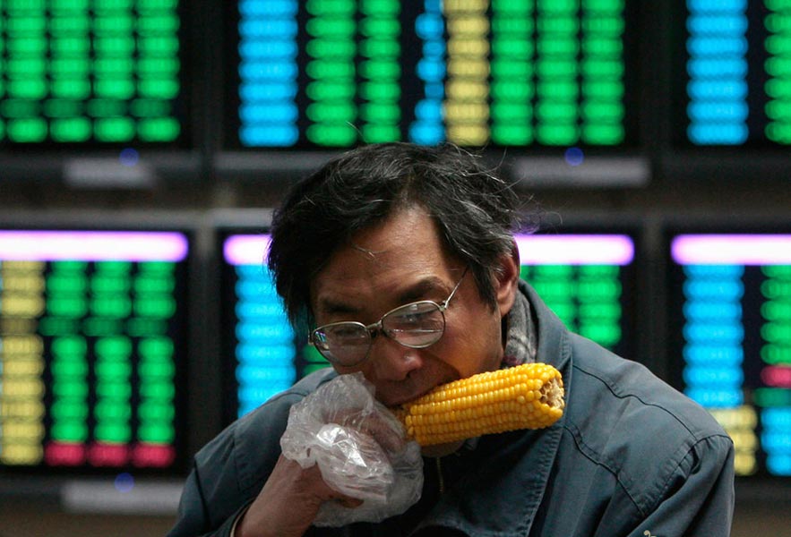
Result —
[[272, 219], [268, 264], [288, 319], [309, 325], [311, 282], [332, 254], [396, 210], [419, 206], [494, 308], [492, 276], [512, 251], [519, 205], [510, 184], [454, 145], [367, 145], [332, 159], [288, 192]]

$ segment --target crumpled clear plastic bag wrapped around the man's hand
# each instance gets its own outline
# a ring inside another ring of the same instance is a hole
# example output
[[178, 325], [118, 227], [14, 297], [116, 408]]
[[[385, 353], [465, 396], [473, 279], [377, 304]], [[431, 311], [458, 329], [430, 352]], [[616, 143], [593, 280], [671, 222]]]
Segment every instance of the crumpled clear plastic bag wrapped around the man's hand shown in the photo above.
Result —
[[323, 503], [316, 526], [380, 522], [420, 499], [420, 447], [374, 399], [374, 386], [362, 373], [339, 375], [292, 406], [280, 447], [303, 468], [319, 465], [332, 489], [363, 500], [359, 507]]

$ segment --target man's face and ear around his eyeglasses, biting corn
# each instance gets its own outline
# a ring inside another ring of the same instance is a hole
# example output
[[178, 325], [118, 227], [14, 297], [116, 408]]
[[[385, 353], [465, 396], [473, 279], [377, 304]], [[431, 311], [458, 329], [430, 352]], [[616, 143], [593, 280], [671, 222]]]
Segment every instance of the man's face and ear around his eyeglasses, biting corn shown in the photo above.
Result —
[[336, 366], [340, 373], [362, 371], [384, 405], [400, 405], [430, 389], [478, 372], [503, 359], [501, 320], [510, 311], [519, 277], [518, 261], [503, 258], [494, 279], [497, 307], [485, 303], [466, 266], [443, 251], [434, 221], [416, 207], [366, 229], [336, 252], [314, 278], [311, 304], [317, 326], [343, 320], [365, 325], [384, 313], [418, 300], [442, 303], [461, 284], [445, 311], [445, 331], [434, 345], [412, 349], [378, 334], [365, 362]]

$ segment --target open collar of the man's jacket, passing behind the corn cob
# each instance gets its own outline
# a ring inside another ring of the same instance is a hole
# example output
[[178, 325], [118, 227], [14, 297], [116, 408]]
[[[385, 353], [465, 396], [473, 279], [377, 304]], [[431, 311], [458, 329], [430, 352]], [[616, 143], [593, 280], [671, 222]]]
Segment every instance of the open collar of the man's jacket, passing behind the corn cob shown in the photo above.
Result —
[[[537, 362], [551, 363], [561, 371], [568, 392], [572, 387], [572, 359], [563, 323], [524, 282], [520, 282], [518, 296], [535, 313]], [[544, 498], [564, 422], [565, 414], [545, 430], [517, 430], [481, 438], [475, 450], [475, 467], [445, 492], [416, 532], [443, 526], [487, 537], [528, 534]]]

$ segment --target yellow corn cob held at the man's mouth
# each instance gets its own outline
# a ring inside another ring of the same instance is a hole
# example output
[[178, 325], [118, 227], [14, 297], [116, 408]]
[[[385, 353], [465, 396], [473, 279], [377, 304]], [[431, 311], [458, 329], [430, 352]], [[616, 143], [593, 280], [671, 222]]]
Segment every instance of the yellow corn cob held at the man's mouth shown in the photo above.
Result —
[[507, 430], [542, 429], [563, 415], [563, 379], [545, 363], [487, 371], [438, 386], [395, 410], [421, 446]]

